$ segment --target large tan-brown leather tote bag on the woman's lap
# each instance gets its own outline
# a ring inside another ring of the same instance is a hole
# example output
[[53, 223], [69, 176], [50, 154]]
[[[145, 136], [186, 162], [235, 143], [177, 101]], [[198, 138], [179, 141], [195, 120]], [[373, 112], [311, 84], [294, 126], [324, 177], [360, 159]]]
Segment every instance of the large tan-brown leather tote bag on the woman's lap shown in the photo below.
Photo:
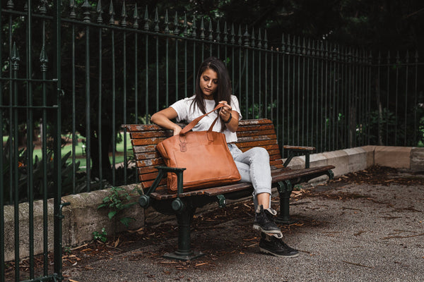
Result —
[[[222, 106], [218, 104], [213, 111]], [[241, 178], [225, 135], [212, 131], [219, 116], [207, 131], [190, 131], [201, 118], [213, 111], [199, 116], [184, 127], [179, 135], [169, 137], [156, 146], [167, 166], [186, 168], [183, 172], [184, 191], [230, 184]], [[167, 188], [169, 192], [177, 191], [175, 173], [168, 173]]]

